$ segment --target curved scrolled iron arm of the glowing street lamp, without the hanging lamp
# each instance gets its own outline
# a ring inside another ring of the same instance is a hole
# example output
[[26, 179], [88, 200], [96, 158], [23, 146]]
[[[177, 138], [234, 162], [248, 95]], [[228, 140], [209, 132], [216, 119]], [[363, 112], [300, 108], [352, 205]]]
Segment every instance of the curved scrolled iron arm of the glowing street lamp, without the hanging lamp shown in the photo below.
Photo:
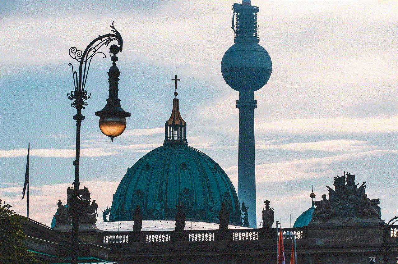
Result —
[[75, 120], [84, 119], [84, 116], [81, 114], [79, 115], [79, 113], [87, 106], [86, 101], [90, 99], [91, 96], [91, 93], [87, 93], [85, 86], [92, 58], [99, 53], [103, 55], [103, 58], [105, 58], [105, 53], [98, 50], [103, 45], [108, 46], [111, 41], [117, 41], [120, 52], [123, 49], [123, 39], [119, 31], [115, 29], [113, 22], [111, 25], [111, 32], [113, 32], [113, 34], [109, 33], [102, 36], [99, 35], [96, 39], [90, 42], [84, 52], [78, 50], [76, 47], [71, 47], [69, 49], [69, 56], [79, 62], [79, 72], [74, 71], [73, 65], [69, 63], [72, 67], [74, 89], [68, 93], [68, 99], [73, 101], [70, 105], [78, 110], [78, 114], [74, 116]]

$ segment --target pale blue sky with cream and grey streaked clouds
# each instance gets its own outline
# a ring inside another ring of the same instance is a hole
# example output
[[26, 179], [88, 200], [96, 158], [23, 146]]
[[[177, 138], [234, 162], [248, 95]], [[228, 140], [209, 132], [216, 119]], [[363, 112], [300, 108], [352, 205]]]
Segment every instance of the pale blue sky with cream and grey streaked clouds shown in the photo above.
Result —
[[[131, 167], [164, 140], [175, 75], [189, 146], [213, 158], [237, 188], [237, 91], [220, 73], [233, 45], [238, 1], [6, 1], [0, 7], [0, 199], [26, 215], [21, 201], [30, 142], [29, 217], [51, 223], [74, 179], [76, 109], [70, 47], [84, 50], [114, 21], [119, 98], [126, 131], [113, 142], [94, 115], [107, 99], [106, 58], [92, 60], [82, 113], [80, 182], [98, 211]], [[260, 1], [259, 44], [271, 56], [268, 83], [254, 93], [257, 225], [263, 201], [275, 221], [293, 226], [344, 171], [380, 198], [382, 219], [398, 215], [398, 2]], [[101, 222], [101, 219], [98, 220]], [[274, 223], [275, 226], [275, 223]]]

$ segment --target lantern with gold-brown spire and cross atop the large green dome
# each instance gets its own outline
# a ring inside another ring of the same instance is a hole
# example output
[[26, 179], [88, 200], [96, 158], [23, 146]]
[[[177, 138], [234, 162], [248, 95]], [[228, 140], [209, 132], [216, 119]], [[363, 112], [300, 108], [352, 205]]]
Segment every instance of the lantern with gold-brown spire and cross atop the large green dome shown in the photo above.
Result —
[[174, 87], [174, 89], [176, 89], [174, 92], [176, 98], [173, 99], [172, 115], [164, 124], [164, 144], [188, 144], [186, 131], [187, 122], [182, 119], [178, 107], [177, 81], [179, 80], [181, 79], [177, 79], [177, 75], [174, 79], [172, 78], [172, 81], [176, 82]]

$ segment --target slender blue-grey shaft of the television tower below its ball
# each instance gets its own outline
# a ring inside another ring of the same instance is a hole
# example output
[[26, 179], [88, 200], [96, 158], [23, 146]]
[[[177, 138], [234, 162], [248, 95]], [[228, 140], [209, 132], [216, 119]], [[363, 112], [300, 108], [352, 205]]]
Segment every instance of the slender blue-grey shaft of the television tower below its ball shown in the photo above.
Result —
[[239, 109], [238, 197], [249, 207], [250, 227], [256, 227], [256, 164], [254, 153], [254, 91], [241, 90], [236, 108]]

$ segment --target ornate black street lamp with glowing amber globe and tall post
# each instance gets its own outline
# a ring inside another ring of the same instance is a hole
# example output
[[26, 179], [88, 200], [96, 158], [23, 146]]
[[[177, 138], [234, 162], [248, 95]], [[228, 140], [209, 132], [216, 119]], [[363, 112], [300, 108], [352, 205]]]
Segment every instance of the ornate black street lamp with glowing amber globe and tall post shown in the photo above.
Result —
[[79, 212], [84, 212], [89, 204], [88, 201], [82, 200], [79, 196], [79, 164], [80, 164], [80, 126], [84, 116], [82, 115], [82, 109], [87, 106], [87, 100], [90, 99], [91, 93], [86, 91], [86, 80], [88, 70], [90, 68], [91, 60], [94, 55], [100, 53], [105, 58], [105, 53], [98, 51], [103, 45], [108, 46], [111, 41], [117, 41], [118, 45], [111, 45], [109, 52], [113, 54], [111, 56], [112, 66], [109, 69], [109, 97], [106, 100], [105, 107], [96, 112], [97, 116], [100, 116], [100, 130], [106, 136], [113, 138], [121, 135], [126, 128], [126, 117], [131, 116], [130, 113], [125, 112], [120, 106], [120, 99], [117, 95], [118, 81], [119, 81], [119, 69], [116, 67], [117, 56], [116, 54], [121, 52], [123, 49], [123, 39], [120, 33], [115, 29], [113, 23], [111, 25], [111, 32], [106, 35], [98, 36], [86, 47], [84, 52], [71, 47], [69, 49], [69, 55], [76, 61], [79, 62], [78, 72], [73, 70], [73, 82], [74, 89], [68, 93], [68, 99], [72, 100], [71, 106], [76, 108], [77, 113], [73, 116], [76, 120], [76, 159], [73, 161], [75, 166], [75, 179], [73, 182], [73, 195], [69, 200], [70, 209], [72, 210], [72, 262], [71, 264], [77, 264], [77, 245], [78, 245], [78, 230], [79, 230]]

